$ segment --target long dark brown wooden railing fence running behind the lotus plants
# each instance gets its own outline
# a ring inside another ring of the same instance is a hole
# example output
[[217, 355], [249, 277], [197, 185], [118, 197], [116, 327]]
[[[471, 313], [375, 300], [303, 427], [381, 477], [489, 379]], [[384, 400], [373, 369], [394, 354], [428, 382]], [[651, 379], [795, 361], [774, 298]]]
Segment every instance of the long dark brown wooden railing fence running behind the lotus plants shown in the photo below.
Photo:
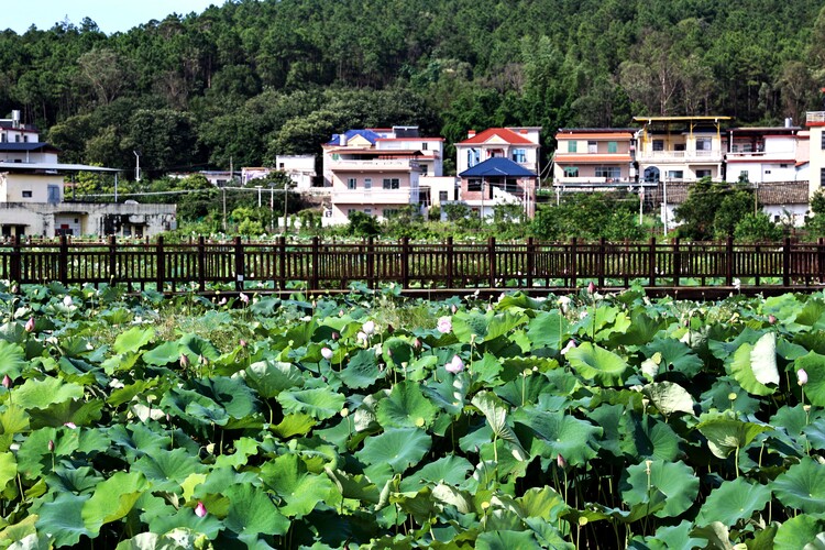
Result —
[[28, 284], [123, 284], [163, 292], [262, 288], [309, 292], [404, 289], [570, 289], [593, 280], [600, 288], [735, 286], [800, 288], [825, 282], [825, 242], [740, 244], [725, 242], [486, 242], [358, 243], [118, 241], [0, 242], [0, 279]]

